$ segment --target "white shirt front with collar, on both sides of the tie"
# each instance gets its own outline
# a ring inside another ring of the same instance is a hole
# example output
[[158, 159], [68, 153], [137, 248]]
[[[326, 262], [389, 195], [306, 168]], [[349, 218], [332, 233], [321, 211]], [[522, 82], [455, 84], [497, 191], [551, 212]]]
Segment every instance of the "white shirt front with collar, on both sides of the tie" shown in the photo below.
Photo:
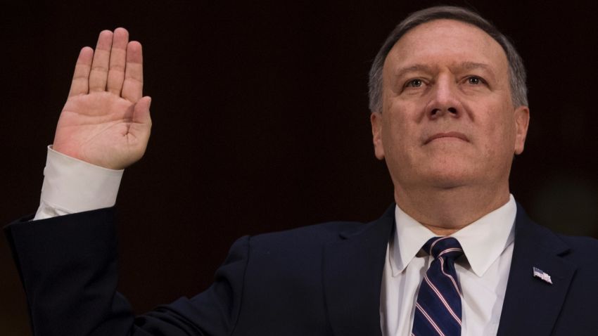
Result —
[[[463, 292], [462, 335], [496, 335], [513, 256], [516, 211], [510, 195], [507, 204], [452, 234], [464, 251], [455, 261]], [[395, 223], [381, 290], [384, 336], [411, 335], [417, 291], [432, 262], [421, 247], [435, 236], [398, 206]]]

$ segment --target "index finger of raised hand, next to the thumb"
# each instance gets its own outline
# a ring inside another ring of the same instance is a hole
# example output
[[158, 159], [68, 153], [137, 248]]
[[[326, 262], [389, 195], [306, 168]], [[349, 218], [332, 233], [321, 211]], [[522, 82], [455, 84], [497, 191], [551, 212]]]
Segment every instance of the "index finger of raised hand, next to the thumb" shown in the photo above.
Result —
[[122, 98], [135, 103], [143, 96], [144, 66], [141, 44], [130, 41], [127, 44], [127, 65], [125, 67], [125, 82], [122, 84]]

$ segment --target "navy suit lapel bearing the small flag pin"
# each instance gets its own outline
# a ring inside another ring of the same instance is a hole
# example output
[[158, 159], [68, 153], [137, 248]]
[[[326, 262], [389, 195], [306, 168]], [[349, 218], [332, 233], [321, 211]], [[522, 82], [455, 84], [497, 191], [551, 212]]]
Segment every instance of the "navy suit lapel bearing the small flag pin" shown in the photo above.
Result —
[[[498, 336], [550, 335], [566, 297], [575, 266], [561, 258], [568, 246], [554, 233], [533, 223], [517, 205], [515, 245]], [[533, 276], [536, 267], [552, 285]]]

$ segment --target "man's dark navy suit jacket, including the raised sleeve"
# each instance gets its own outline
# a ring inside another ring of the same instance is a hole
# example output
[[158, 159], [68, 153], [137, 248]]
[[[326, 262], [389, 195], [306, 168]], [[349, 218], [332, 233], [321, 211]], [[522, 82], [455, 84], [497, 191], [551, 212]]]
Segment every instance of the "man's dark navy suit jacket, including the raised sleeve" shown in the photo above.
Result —
[[[394, 205], [368, 224], [241, 238], [208, 290], [136, 318], [116, 292], [113, 221], [100, 209], [6, 228], [35, 335], [381, 335]], [[597, 286], [598, 241], [556, 235], [518, 207], [498, 335], [598, 335]]]

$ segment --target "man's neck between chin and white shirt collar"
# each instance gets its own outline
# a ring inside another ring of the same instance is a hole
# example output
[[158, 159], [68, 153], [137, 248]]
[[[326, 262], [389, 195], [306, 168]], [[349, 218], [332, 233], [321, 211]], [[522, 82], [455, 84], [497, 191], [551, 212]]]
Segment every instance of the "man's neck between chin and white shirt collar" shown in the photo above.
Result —
[[509, 202], [509, 186], [497, 188], [395, 187], [397, 205], [435, 235], [450, 235]]

